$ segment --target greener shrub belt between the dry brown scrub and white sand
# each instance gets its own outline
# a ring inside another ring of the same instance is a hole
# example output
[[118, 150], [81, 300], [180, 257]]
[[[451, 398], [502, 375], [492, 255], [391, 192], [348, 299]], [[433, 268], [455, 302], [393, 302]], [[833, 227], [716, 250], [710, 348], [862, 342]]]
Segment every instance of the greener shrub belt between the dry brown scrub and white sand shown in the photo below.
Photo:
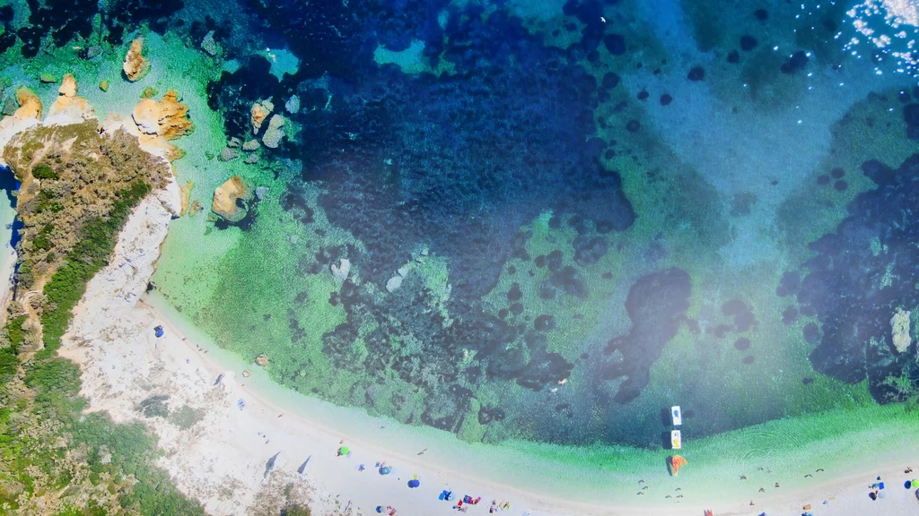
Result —
[[[88, 451], [85, 467], [90, 470], [90, 482], [98, 485], [105, 478], [103, 473], [108, 474], [119, 484], [117, 499], [125, 511], [163, 516], [203, 516], [204, 511], [199, 504], [185, 498], [176, 490], [165, 471], [153, 466], [156, 442], [142, 424], [115, 424], [104, 412], [82, 413], [85, 399], [79, 396], [79, 367], [57, 356], [61, 337], [72, 318], [71, 310], [83, 297], [86, 283], [108, 264], [131, 208], [149, 191], [149, 185], [138, 181], [118, 193], [118, 200], [107, 218], [86, 221], [80, 230], [80, 240], [63, 257], [61, 267], [45, 285], [43, 292], [47, 304], [41, 316], [45, 347], [35, 353], [25, 366], [25, 383], [34, 393], [34, 403], [29, 403], [28, 398], [21, 398], [16, 411], [28, 416], [24, 421], [44, 420], [62, 424], [61, 435], [55, 434], [52, 438], [66, 439], [70, 449], [85, 447]], [[40, 237], [47, 237], [50, 232], [50, 227], [43, 228]], [[36, 245], [36, 241], [32, 243]], [[29, 262], [20, 265], [20, 283], [23, 273], [31, 280], [31, 266]], [[25, 341], [24, 321], [25, 318], [17, 318], [6, 325], [10, 345], [0, 348], [0, 378], [4, 382], [16, 374], [19, 365], [17, 348]], [[148, 405], [155, 412], [153, 415], [167, 415], [165, 399]], [[38, 468], [51, 479], [55, 488], [68, 486], [73, 480], [71, 472], [59, 466], [66, 450], [42, 445], [34, 436], [18, 432], [19, 429], [10, 423], [10, 413], [8, 407], [0, 409], [0, 458], [3, 459], [0, 461], [0, 480], [15, 481], [27, 493], [35, 494], [30, 472]], [[187, 417], [183, 421], [187, 421]], [[103, 451], [110, 453], [110, 460], [102, 460]], [[116, 494], [115, 488], [114, 484], [110, 485], [109, 492]], [[9, 503], [11, 508], [17, 507], [16, 497], [7, 496], [6, 491], [0, 489], [0, 503], [3, 502]], [[85, 510], [68, 507], [59, 512], [67, 516], [101, 516], [106, 513], [104, 508], [93, 503]]]

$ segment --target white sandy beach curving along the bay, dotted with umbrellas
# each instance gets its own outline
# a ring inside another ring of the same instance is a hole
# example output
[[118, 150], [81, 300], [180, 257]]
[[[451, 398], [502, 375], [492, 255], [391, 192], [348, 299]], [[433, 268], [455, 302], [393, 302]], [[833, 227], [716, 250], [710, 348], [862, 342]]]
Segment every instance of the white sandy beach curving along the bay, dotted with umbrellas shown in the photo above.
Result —
[[[715, 514], [800, 514], [805, 505], [811, 505], [815, 516], [854, 516], [909, 514], [919, 507], [913, 489], [902, 487], [903, 481], [912, 477], [904, 475], [902, 469], [907, 458], [916, 458], [915, 450], [904, 450], [903, 460], [897, 458], [896, 464], [880, 464], [857, 476], [811, 484], [806, 490], [790, 485], [788, 491], [773, 490], [754, 500], [752, 507], [732, 488], [726, 488], [720, 499], [685, 505], [658, 506], [649, 499], [643, 504], [617, 507], [544, 497], [528, 492], [526, 485], [505, 486], [458, 471], [462, 468], [453, 467], [450, 457], [462, 457], [468, 445], [452, 436], [448, 442], [455, 449], [431, 450], [423, 455], [406, 453], [403, 445], [355, 437], [366, 432], [343, 427], [328, 414], [292, 408], [287, 397], [247, 384], [247, 379], [254, 381], [255, 377], [242, 376], [244, 365], [228, 367], [216, 358], [218, 353], [211, 356], [210, 343], [188, 338], [182, 321], [165, 317], [144, 302], [142, 292], [165, 239], [168, 213], [152, 196], [131, 217], [115, 259], [90, 283], [76, 308], [61, 353], [81, 365], [82, 393], [90, 400], [90, 409], [108, 410], [115, 421], [144, 421], [159, 436], [164, 451], [160, 465], [171, 473], [178, 488], [199, 499], [211, 514], [250, 513], [267, 477], [306, 487], [316, 514], [369, 514], [378, 506], [392, 506], [399, 514], [449, 514], [453, 503], [437, 499], [445, 488], [459, 497], [482, 497], [482, 502], [469, 510], [480, 514], [488, 513], [493, 499], [512, 504], [511, 510], [499, 513], [534, 516], [663, 516], [701, 514], [703, 509]], [[159, 339], [153, 332], [157, 325], [165, 328], [164, 337]], [[200, 421], [182, 431], [162, 418], [144, 419], [136, 407], [153, 395], [168, 395], [172, 409], [188, 406], [198, 410]], [[237, 407], [240, 398], [245, 401], [244, 409]], [[343, 440], [351, 454], [338, 457], [336, 451]], [[425, 442], [419, 441], [416, 447], [421, 451]], [[375, 464], [380, 461], [392, 467], [390, 475], [379, 474]], [[273, 464], [271, 475], [267, 475], [269, 463]], [[366, 470], [360, 472], [359, 465]], [[885, 498], [872, 501], [868, 499], [868, 485], [878, 475], [888, 483]], [[408, 488], [407, 481], [415, 476], [421, 486]], [[609, 488], [634, 490], [631, 486]]]

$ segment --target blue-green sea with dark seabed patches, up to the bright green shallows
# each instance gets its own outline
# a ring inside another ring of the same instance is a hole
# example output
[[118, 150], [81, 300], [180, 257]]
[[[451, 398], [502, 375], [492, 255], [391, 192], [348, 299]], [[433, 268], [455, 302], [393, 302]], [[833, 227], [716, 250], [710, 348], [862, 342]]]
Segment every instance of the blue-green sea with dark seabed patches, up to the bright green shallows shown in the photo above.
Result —
[[0, 76], [176, 88], [149, 288], [250, 367], [488, 443], [916, 403], [919, 88], [867, 11], [231, 4], [13, 3]]

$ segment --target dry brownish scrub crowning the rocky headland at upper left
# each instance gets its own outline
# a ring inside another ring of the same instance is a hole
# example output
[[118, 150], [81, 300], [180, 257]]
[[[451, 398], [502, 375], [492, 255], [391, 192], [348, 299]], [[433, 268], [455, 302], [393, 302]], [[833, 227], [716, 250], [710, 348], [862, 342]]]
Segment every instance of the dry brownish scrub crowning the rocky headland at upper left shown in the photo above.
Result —
[[[73, 147], [62, 151], [69, 140], [74, 140]], [[93, 121], [17, 135], [6, 145], [4, 159], [22, 184], [17, 192], [17, 212], [24, 226], [17, 249], [18, 281], [27, 290], [33, 284], [40, 287], [36, 277], [47, 277], [63, 267], [81, 231], [90, 237], [84, 246], [96, 245], [96, 235], [84, 226], [91, 222], [98, 226], [103, 216], [124, 211], [119, 203], [145, 194], [126, 193], [139, 181], [159, 186], [170, 174], [164, 163], [139, 151], [134, 137], [123, 131], [100, 136]], [[93, 256], [91, 261], [98, 260]]]

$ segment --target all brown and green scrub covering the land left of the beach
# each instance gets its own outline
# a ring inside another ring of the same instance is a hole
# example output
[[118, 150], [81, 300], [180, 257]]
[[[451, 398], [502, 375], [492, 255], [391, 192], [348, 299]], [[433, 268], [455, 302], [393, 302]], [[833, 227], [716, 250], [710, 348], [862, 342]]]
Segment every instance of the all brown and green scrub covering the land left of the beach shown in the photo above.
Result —
[[[165, 471], [153, 465], [155, 439], [142, 424], [116, 424], [105, 412], [83, 413], [86, 402], [79, 396], [79, 367], [57, 356], [71, 310], [87, 282], [108, 264], [131, 209], [150, 192], [151, 183], [162, 180], [162, 168], [142, 168], [150, 163], [149, 157], [126, 135], [103, 138], [84, 129], [70, 129], [81, 139], [68, 154], [37, 148], [31, 137], [44, 138], [39, 134], [42, 129], [29, 131], [17, 140], [20, 155], [28, 152], [28, 160], [23, 159], [19, 168], [11, 161], [18, 176], [30, 170], [42, 180], [31, 183], [27, 201], [18, 204], [20, 215], [34, 220], [43, 212], [41, 203], [53, 197], [61, 207], [53, 219], [67, 220], [68, 228], [77, 229], [69, 239], [48, 238], [51, 230], [43, 228], [49, 222], [42, 220], [39, 230], [29, 231], [27, 225], [23, 231], [20, 247], [32, 250], [31, 256], [40, 247], [60, 259], [45, 258], [41, 275], [35, 274], [38, 269], [28, 268], [31, 285], [43, 284], [43, 297], [14, 301], [2, 331], [0, 512], [32, 514], [43, 507], [42, 513], [60, 515], [203, 514], [199, 505], [176, 491]], [[84, 151], [96, 151], [99, 157], [87, 159]], [[40, 152], [52, 156], [54, 165], [23, 168], [39, 159]], [[120, 163], [119, 174], [124, 164], [133, 171], [120, 175], [128, 177], [129, 183], [113, 185], [103, 179], [116, 163]], [[55, 183], [58, 177], [82, 185], [60, 185]], [[46, 185], [54, 190], [51, 196]], [[101, 195], [74, 194], [80, 189]], [[28, 307], [23, 306], [26, 303]], [[30, 318], [40, 318], [40, 325]]]

